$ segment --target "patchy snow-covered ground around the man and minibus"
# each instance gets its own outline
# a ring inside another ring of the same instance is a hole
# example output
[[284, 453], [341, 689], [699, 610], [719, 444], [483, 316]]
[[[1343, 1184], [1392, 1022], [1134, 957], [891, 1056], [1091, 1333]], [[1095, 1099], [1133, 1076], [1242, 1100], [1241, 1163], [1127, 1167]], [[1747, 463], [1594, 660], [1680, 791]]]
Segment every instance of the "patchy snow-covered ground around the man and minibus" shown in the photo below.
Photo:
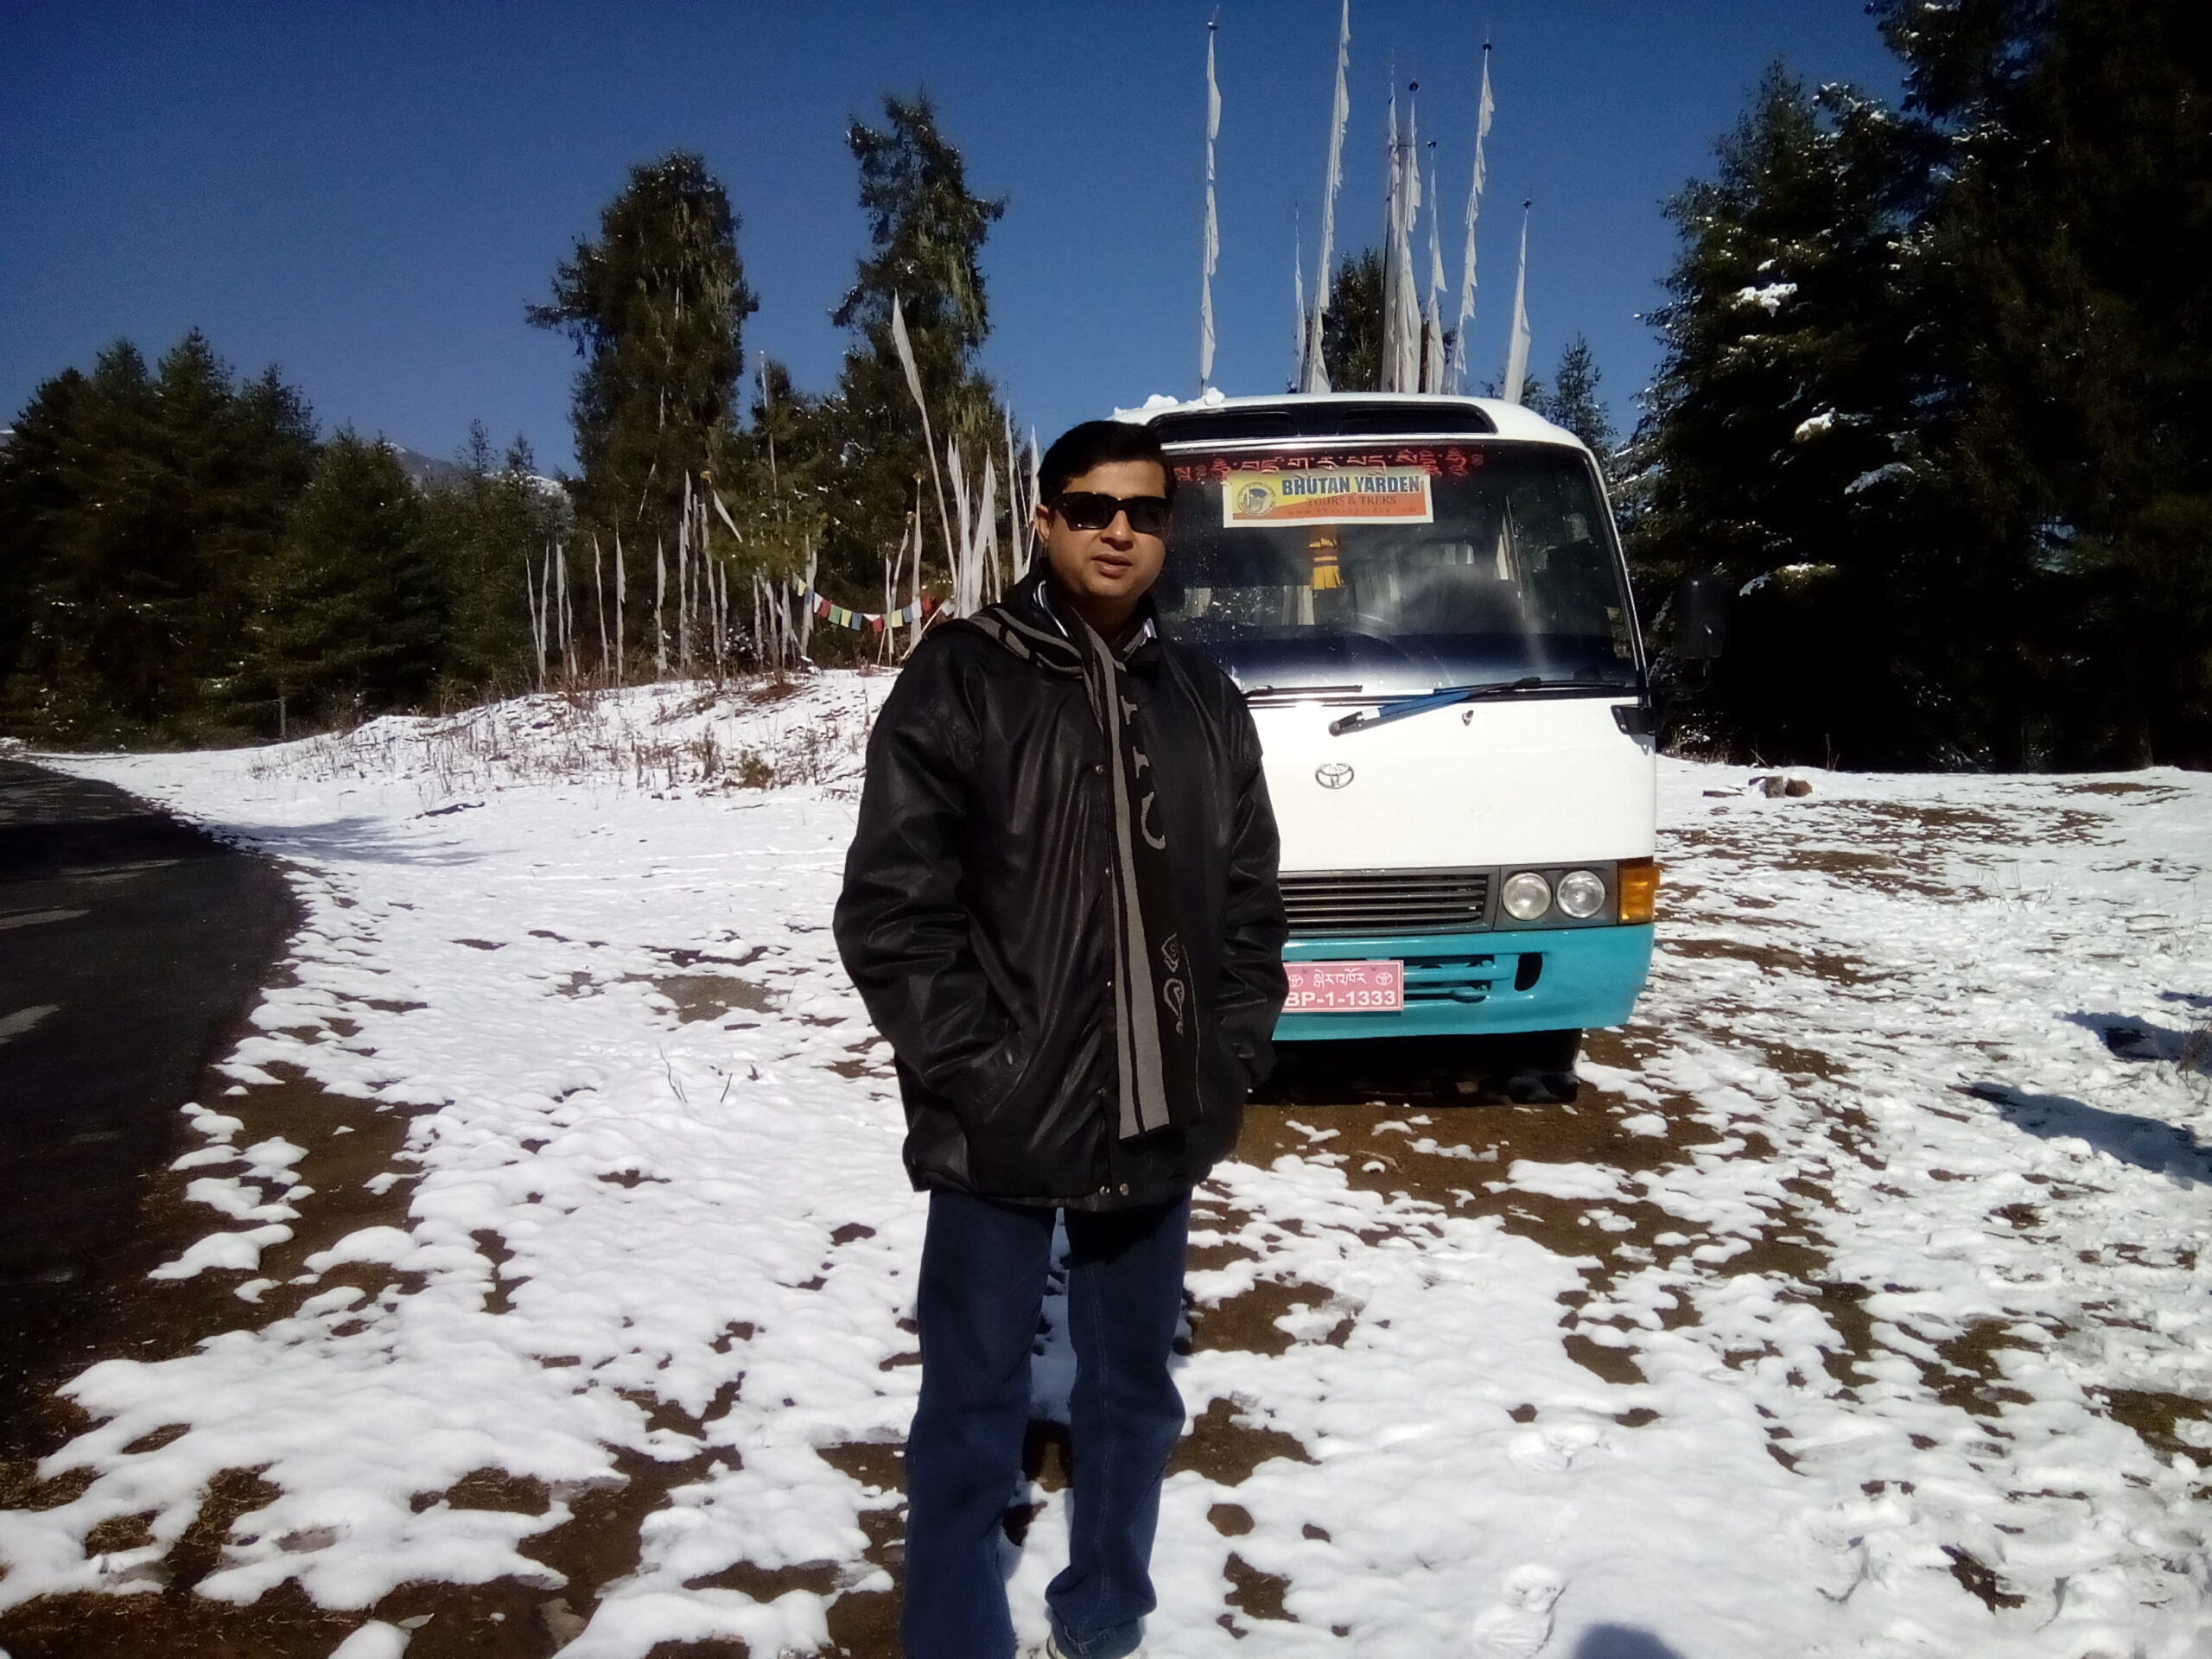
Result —
[[[170, 1582], [223, 1495], [197, 1593], [374, 1615], [345, 1659], [462, 1650], [440, 1582], [515, 1652], [889, 1652], [922, 1206], [827, 933], [887, 686], [71, 763], [307, 920], [148, 1292], [232, 1329], [71, 1385], [0, 1632]], [[1661, 956], [1575, 1108], [1254, 1108], [1150, 1652], [2212, 1648], [2212, 779], [1807, 776], [1663, 763]]]

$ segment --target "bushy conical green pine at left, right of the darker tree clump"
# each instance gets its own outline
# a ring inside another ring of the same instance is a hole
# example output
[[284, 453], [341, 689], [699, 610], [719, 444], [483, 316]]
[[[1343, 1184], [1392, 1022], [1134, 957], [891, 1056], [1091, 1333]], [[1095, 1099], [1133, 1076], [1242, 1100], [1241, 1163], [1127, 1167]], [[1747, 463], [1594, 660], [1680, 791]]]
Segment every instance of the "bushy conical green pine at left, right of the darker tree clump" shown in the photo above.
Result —
[[422, 498], [389, 445], [338, 431], [261, 573], [252, 681], [274, 726], [418, 706], [445, 637]]

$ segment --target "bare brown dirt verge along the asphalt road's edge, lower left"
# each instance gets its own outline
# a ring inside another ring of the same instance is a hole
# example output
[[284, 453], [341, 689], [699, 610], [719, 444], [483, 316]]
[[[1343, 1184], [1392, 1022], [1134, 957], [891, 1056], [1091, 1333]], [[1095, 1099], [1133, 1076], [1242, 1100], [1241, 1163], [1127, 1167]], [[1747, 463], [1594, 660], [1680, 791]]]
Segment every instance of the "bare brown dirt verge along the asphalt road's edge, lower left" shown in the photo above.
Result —
[[[173, 1358], [221, 1332], [259, 1329], [285, 1318], [307, 1296], [338, 1285], [358, 1290], [361, 1305], [396, 1301], [420, 1287], [420, 1276], [380, 1263], [345, 1263], [319, 1276], [305, 1270], [310, 1254], [358, 1228], [405, 1223], [405, 1175], [398, 1183], [378, 1183], [383, 1190], [369, 1190], [367, 1183], [405, 1170], [409, 1115], [323, 1093], [288, 1066], [270, 1066], [270, 1073], [279, 1082], [250, 1086], [241, 1095], [226, 1093], [226, 1079], [210, 1075], [201, 1099], [243, 1121], [232, 1137], [239, 1148], [270, 1137], [305, 1148], [292, 1175], [314, 1190], [296, 1201], [292, 1239], [263, 1250], [257, 1272], [210, 1270], [181, 1281], [146, 1279], [150, 1267], [223, 1225], [212, 1210], [190, 1203], [184, 1188], [192, 1177], [219, 1175], [228, 1166], [159, 1172], [148, 1183], [137, 1230], [88, 1287], [77, 1323], [35, 1378], [31, 1409], [0, 1425], [0, 1504], [49, 1509], [71, 1502], [91, 1484], [91, 1471], [84, 1469], [53, 1480], [38, 1478], [38, 1460], [88, 1427], [88, 1418], [58, 1396], [60, 1385], [88, 1363], [108, 1356]], [[480, 1234], [478, 1248], [498, 1272], [498, 1263], [507, 1259], [502, 1241]], [[237, 1285], [257, 1276], [276, 1283], [257, 1303], [241, 1301]], [[307, 1283], [290, 1283], [292, 1279]], [[502, 1296], [504, 1285], [495, 1283], [493, 1301]], [[699, 1425], [686, 1427], [697, 1433]], [[157, 1436], [148, 1436], [139, 1449], [157, 1442]], [[186, 1535], [144, 1568], [159, 1588], [27, 1601], [0, 1615], [0, 1650], [13, 1659], [325, 1659], [347, 1632], [376, 1617], [394, 1624], [425, 1619], [409, 1641], [411, 1659], [549, 1659], [582, 1630], [599, 1586], [637, 1568], [644, 1517], [666, 1506], [675, 1486], [701, 1478], [706, 1462], [661, 1464], [615, 1453], [617, 1482], [571, 1495], [571, 1517], [522, 1546], [524, 1555], [546, 1564], [549, 1579], [566, 1579], [562, 1590], [515, 1582], [409, 1584], [361, 1613], [316, 1608], [296, 1584], [243, 1608], [195, 1595], [192, 1586], [219, 1564], [232, 1524], [276, 1495], [254, 1471], [228, 1471], [208, 1484]], [[442, 1493], [418, 1493], [414, 1502], [418, 1509], [453, 1504], [544, 1515], [553, 1495], [542, 1482], [478, 1469]], [[139, 1517], [119, 1517], [95, 1528], [86, 1548], [133, 1548], [142, 1533]]]

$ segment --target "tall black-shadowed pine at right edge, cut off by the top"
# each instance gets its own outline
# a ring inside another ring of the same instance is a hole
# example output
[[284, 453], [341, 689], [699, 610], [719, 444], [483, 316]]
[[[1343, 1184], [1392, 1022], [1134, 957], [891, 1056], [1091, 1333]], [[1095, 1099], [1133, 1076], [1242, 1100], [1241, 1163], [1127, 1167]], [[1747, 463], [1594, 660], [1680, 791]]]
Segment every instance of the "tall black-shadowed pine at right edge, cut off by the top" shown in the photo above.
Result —
[[1929, 192], [1931, 535], [2000, 765], [2212, 765], [2212, 11], [1876, 7]]

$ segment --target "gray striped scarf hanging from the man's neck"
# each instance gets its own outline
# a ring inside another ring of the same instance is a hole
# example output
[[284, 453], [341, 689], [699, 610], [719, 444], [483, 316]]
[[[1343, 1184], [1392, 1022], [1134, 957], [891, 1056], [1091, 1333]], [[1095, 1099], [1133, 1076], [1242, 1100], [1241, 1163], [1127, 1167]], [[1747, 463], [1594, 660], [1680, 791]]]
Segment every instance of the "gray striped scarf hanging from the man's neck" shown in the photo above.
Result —
[[1113, 1035], [1119, 1135], [1133, 1141], [1170, 1124], [1194, 1124], [1199, 1018], [1190, 995], [1190, 953], [1177, 931], [1168, 836], [1152, 810], [1159, 783], [1150, 757], [1137, 745], [1137, 701], [1128, 681], [1128, 661], [1150, 628], [1137, 628], [1119, 648], [1106, 644], [1066, 606], [1051, 606], [1042, 562], [1004, 602], [969, 617], [969, 626], [1048, 675], [1084, 681], [1091, 714], [1115, 757]]

